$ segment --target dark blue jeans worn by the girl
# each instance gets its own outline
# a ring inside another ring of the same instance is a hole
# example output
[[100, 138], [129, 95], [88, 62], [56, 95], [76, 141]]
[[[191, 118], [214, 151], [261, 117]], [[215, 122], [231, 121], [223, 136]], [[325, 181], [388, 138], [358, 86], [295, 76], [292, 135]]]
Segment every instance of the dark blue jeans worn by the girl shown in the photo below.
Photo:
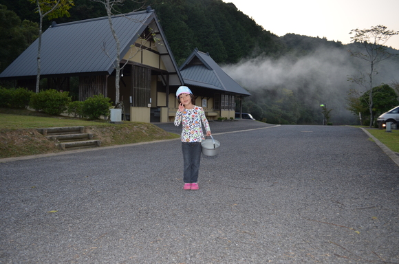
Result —
[[198, 170], [200, 170], [201, 143], [182, 142], [184, 171], [183, 180], [185, 184], [198, 181]]

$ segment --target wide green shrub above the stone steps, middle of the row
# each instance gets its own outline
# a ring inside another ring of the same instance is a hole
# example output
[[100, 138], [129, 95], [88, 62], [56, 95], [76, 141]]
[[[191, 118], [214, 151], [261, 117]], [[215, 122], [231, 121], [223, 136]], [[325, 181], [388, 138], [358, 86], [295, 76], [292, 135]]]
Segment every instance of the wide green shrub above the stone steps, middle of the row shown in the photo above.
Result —
[[29, 106], [36, 111], [43, 111], [50, 115], [59, 115], [67, 110], [71, 97], [67, 91], [59, 92], [54, 89], [33, 94]]

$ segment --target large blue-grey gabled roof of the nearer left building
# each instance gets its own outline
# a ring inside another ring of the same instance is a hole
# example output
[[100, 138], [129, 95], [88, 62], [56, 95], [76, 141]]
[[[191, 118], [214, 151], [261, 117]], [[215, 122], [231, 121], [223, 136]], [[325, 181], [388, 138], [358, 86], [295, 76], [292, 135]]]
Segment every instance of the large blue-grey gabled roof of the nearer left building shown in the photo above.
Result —
[[[182, 83], [177, 64], [154, 10], [148, 8], [147, 11], [114, 16], [112, 23], [120, 40], [121, 59], [129, 51], [130, 45], [148, 26], [158, 32], [157, 37], [161, 39], [161, 45], [157, 45], [157, 48], [162, 61], [169, 73], [176, 74], [175, 85]], [[38, 46], [39, 39], [36, 39], [0, 74], [0, 78], [35, 78]], [[41, 45], [41, 76], [43, 77], [111, 74], [114, 71], [116, 59], [111, 61], [110, 58], [116, 58], [116, 43], [109, 29], [107, 17], [59, 25], [54, 23], [43, 32]]]

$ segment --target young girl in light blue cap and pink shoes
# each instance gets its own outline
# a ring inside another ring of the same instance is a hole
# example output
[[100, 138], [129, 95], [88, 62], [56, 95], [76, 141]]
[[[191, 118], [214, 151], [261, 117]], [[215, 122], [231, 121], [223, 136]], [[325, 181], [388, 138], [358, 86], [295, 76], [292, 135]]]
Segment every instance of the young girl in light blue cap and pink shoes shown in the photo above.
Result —
[[202, 107], [195, 105], [195, 97], [186, 86], [180, 86], [176, 91], [179, 100], [179, 110], [176, 112], [175, 126], [182, 123], [182, 151], [184, 160], [184, 190], [198, 190], [198, 170], [200, 169], [201, 141], [204, 139], [202, 124], [206, 135], [211, 135], [208, 120]]

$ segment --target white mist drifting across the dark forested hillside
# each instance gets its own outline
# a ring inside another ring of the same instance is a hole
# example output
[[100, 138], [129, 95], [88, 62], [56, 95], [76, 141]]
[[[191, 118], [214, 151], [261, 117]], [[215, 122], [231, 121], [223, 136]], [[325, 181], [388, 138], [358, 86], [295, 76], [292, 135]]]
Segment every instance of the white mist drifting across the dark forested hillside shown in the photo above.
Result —
[[[332, 120], [342, 123], [348, 119], [356, 122], [353, 113], [345, 109], [349, 89], [365, 90], [348, 81], [348, 76], [358, 76], [359, 69], [367, 72], [369, 64], [350, 56], [345, 49], [321, 47], [306, 56], [288, 55], [279, 59], [259, 56], [222, 68], [250, 92], [290, 89], [310, 109], [326, 104], [327, 109], [334, 109], [331, 112]], [[374, 86], [392, 83], [399, 72], [398, 63], [391, 61], [382, 61], [378, 69]]]

